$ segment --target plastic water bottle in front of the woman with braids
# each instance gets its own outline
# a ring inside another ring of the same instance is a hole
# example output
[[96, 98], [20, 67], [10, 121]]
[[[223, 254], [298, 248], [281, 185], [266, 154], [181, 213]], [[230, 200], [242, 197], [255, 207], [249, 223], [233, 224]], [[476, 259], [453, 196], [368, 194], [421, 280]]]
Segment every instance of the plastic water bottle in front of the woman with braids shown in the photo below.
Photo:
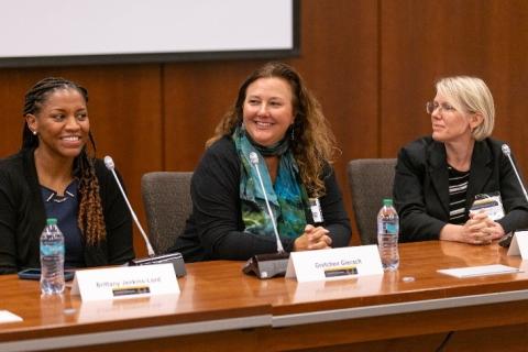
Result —
[[57, 219], [50, 218], [41, 234], [41, 290], [62, 294], [64, 286], [64, 235]]

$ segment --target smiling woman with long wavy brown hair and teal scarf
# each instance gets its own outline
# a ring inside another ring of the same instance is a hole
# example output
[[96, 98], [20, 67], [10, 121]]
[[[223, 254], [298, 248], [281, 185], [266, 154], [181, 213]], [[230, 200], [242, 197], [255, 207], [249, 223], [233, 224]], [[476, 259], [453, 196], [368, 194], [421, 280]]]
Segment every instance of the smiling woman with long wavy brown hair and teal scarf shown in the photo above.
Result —
[[[283, 63], [262, 66], [207, 142], [191, 182], [193, 215], [173, 250], [188, 262], [246, 260], [277, 250], [275, 226], [287, 252], [348, 245], [336, 151], [299, 74]], [[316, 198], [323, 223], [310, 212]]]

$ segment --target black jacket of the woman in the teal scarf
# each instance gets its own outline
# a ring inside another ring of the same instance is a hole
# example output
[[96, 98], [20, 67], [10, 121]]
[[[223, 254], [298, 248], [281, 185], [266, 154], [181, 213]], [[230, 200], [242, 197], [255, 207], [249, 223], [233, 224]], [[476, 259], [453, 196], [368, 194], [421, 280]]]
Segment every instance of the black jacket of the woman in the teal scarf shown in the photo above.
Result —
[[[193, 213], [185, 232], [176, 239], [172, 252], [182, 252], [186, 262], [208, 260], [248, 260], [255, 254], [277, 251], [274, 237], [244, 232], [240, 201], [240, 158], [234, 142], [224, 136], [212, 144], [196, 168], [190, 194]], [[326, 229], [332, 246], [346, 246], [350, 222], [333, 170], [324, 177], [327, 195], [321, 197]], [[309, 209], [306, 219], [312, 223]], [[293, 250], [295, 239], [280, 237], [285, 251]]]

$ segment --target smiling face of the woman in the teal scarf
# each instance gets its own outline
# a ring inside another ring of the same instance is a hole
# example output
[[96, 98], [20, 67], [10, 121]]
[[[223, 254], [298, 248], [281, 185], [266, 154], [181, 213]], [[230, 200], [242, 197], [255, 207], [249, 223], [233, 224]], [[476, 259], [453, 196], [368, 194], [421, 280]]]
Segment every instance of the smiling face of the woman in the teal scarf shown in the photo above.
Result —
[[283, 78], [258, 78], [248, 86], [243, 121], [253, 141], [271, 146], [279, 142], [294, 123], [293, 92]]

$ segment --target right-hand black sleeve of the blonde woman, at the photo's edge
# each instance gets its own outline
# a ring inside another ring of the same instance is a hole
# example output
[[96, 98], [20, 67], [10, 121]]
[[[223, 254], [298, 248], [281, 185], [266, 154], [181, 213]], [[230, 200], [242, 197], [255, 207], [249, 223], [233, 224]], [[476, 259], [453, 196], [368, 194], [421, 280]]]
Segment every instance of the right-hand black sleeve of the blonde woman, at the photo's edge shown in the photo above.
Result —
[[[522, 189], [509, 160], [503, 154], [499, 155], [501, 198], [506, 216], [497, 222], [501, 223], [505, 233], [528, 229], [528, 204], [524, 197]], [[514, 160], [513, 155], [512, 158]], [[518, 167], [517, 172], [520, 173]], [[519, 177], [522, 179], [521, 175]]]

